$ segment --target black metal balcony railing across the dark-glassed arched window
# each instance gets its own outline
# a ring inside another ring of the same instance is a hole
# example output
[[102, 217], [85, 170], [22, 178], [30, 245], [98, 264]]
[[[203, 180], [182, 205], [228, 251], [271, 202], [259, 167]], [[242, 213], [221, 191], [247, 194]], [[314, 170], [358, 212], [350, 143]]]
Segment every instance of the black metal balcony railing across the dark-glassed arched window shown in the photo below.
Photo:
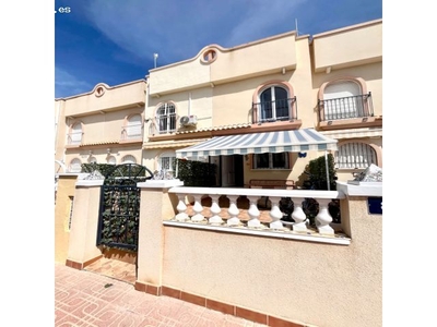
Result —
[[296, 97], [252, 105], [252, 123], [294, 121], [297, 119]]

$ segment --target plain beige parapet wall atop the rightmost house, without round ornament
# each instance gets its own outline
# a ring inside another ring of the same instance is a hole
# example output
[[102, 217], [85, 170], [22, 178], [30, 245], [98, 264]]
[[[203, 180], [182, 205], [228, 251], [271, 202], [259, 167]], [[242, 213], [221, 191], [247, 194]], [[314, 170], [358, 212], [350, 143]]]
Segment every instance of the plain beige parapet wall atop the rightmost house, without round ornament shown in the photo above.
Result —
[[[351, 45], [354, 45], [351, 47]], [[314, 36], [315, 70], [382, 61], [382, 21], [373, 21]]]

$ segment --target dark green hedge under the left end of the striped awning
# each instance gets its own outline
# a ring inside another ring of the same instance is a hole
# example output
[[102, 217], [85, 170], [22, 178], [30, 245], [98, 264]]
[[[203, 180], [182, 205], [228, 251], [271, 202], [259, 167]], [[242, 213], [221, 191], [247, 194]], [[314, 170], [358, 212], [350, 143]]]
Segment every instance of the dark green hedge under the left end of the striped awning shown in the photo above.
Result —
[[[192, 160], [178, 160], [178, 179], [184, 181], [185, 186], [216, 186], [217, 166], [215, 164]], [[173, 168], [176, 170], [176, 162]]]

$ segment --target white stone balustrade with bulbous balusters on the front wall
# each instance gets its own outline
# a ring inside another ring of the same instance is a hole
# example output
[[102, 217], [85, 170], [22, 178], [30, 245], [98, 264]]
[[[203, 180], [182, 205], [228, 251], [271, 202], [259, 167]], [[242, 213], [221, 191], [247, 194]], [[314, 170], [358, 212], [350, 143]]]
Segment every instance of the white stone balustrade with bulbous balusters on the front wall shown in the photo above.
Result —
[[[345, 241], [345, 234], [336, 232], [338, 223], [333, 223], [329, 210], [333, 201], [344, 197], [344, 194], [338, 191], [176, 186], [168, 192], [175, 193], [179, 201], [176, 206], [178, 214], [166, 220], [166, 225], [185, 225], [190, 228], [220, 229], [228, 232], [237, 229], [239, 232], [262, 232], [263, 235], [270, 232], [273, 233], [272, 237], [316, 238], [314, 241], [318, 242], [349, 242]], [[258, 202], [265, 201], [267, 196], [271, 206], [260, 210]], [[191, 201], [187, 202], [186, 198], [190, 197]], [[204, 203], [205, 199], [209, 204]], [[291, 219], [284, 219], [286, 214], [281, 205], [284, 199], [292, 202], [293, 209], [288, 213]], [[309, 223], [306, 214], [308, 204], [317, 208], [315, 225]], [[324, 238], [324, 241], [320, 238]]]

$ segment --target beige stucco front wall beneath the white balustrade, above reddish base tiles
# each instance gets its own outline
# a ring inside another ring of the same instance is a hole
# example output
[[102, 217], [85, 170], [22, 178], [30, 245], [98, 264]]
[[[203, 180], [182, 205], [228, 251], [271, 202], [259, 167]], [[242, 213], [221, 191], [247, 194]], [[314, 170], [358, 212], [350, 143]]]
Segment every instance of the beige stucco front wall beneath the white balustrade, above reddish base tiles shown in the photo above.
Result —
[[163, 284], [316, 326], [381, 326], [382, 217], [365, 197], [349, 205], [347, 246], [166, 227]]

